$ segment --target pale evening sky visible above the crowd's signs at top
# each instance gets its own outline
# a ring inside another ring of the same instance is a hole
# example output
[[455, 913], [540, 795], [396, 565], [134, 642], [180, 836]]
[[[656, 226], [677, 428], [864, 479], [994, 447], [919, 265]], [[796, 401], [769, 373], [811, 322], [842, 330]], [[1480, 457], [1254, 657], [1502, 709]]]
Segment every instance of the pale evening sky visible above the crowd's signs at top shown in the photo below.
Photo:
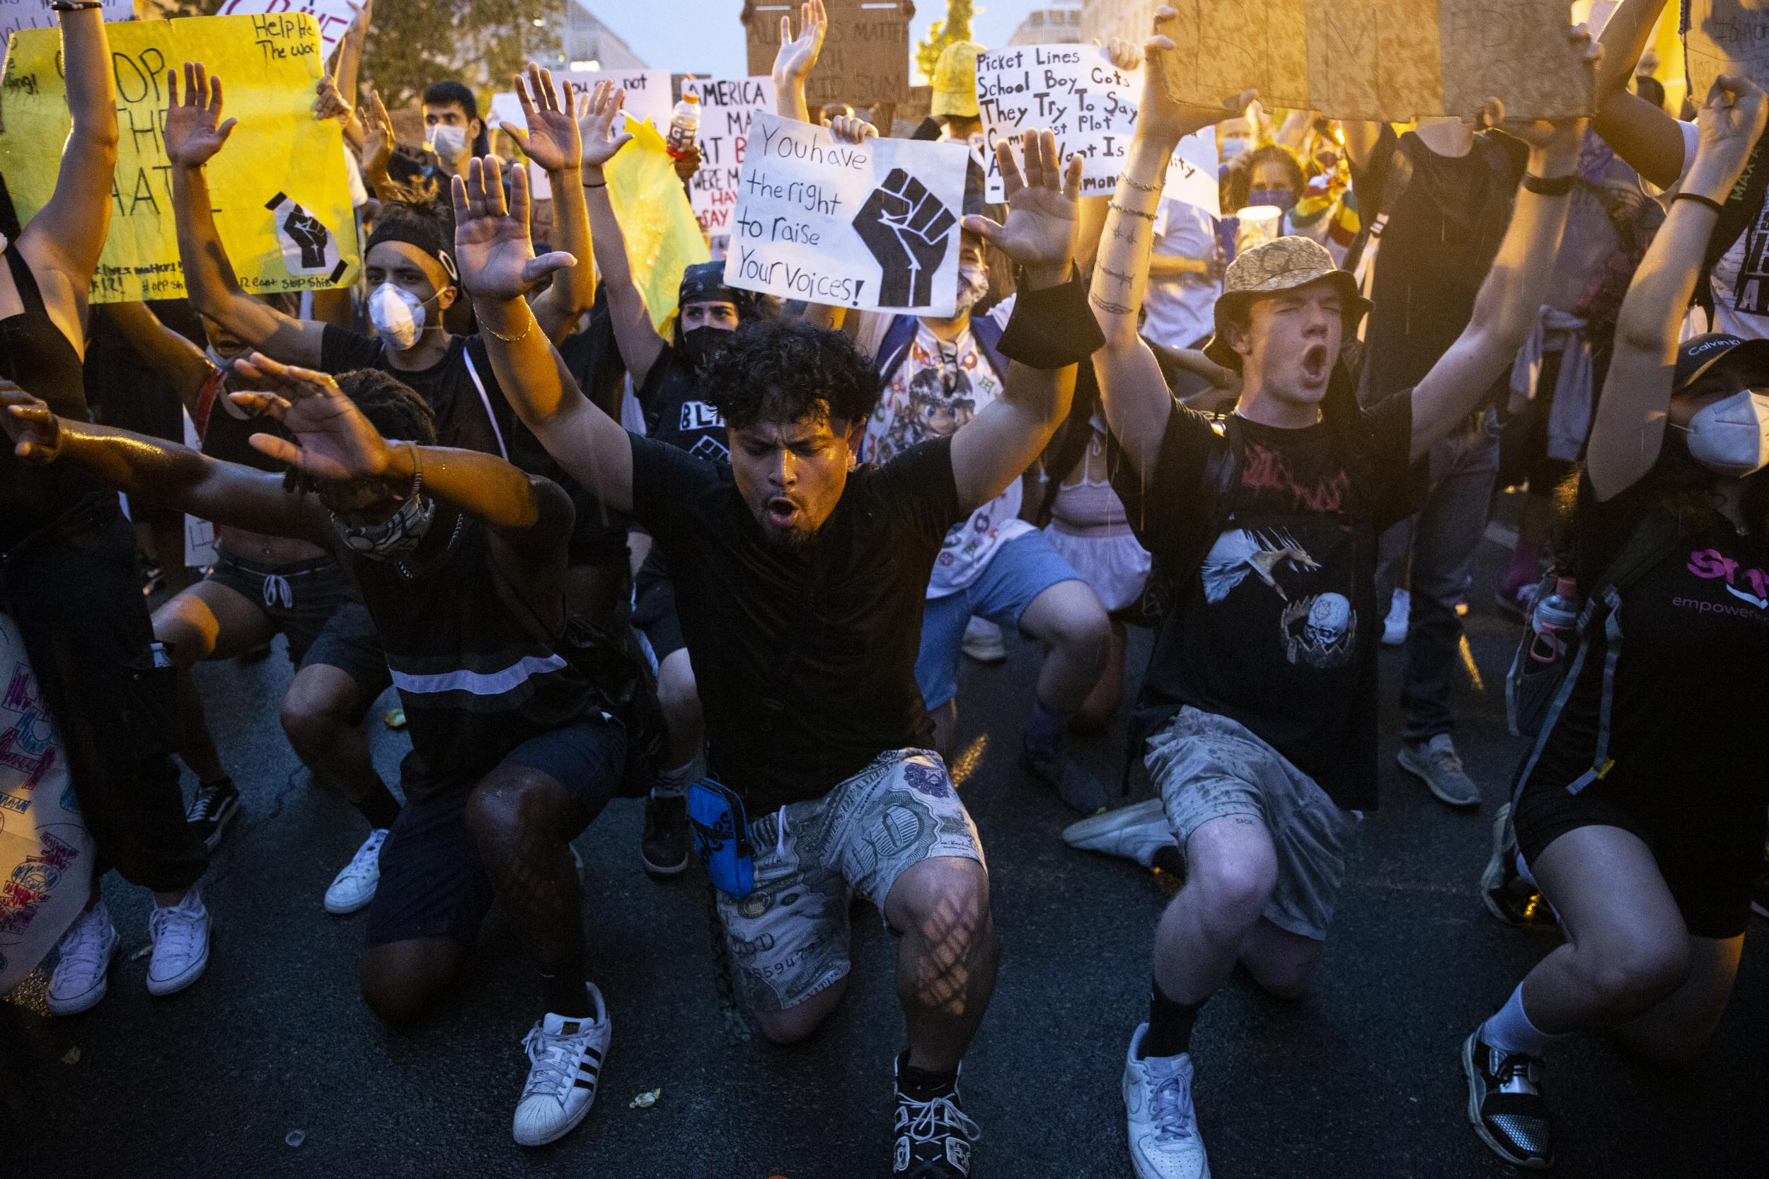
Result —
[[[1049, 5], [1051, 0], [976, 4], [971, 35], [991, 48], [1007, 44], [1026, 12]], [[587, 7], [653, 69], [715, 78], [748, 72], [743, 25], [738, 23], [743, 0], [587, 0]], [[911, 44], [925, 37], [927, 27], [946, 14], [945, 0], [916, 0], [915, 7], [915, 19], [909, 23]], [[793, 25], [796, 30], [796, 14]]]

